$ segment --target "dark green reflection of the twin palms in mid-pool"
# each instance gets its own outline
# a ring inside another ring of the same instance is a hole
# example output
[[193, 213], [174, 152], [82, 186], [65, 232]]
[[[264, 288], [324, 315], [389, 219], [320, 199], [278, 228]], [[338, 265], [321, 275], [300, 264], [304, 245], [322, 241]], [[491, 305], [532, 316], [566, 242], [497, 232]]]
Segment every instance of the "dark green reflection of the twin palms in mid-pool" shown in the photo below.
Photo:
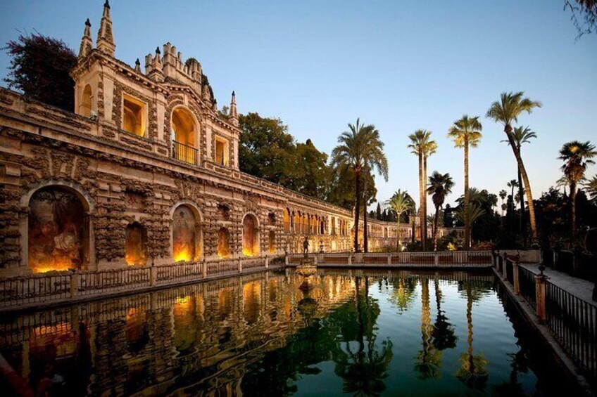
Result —
[[[382, 341], [376, 350], [376, 335], [373, 332], [379, 306], [369, 298], [369, 279], [365, 277], [365, 293], [360, 292], [360, 278], [356, 278], [356, 339], [358, 350], [352, 351], [349, 338], [345, 338], [346, 352], [337, 358], [336, 374], [344, 379], [344, 393], [356, 396], [379, 396], [386, 389], [383, 379], [388, 376], [387, 368], [392, 359], [391, 341]], [[367, 339], [365, 349], [365, 338]]]

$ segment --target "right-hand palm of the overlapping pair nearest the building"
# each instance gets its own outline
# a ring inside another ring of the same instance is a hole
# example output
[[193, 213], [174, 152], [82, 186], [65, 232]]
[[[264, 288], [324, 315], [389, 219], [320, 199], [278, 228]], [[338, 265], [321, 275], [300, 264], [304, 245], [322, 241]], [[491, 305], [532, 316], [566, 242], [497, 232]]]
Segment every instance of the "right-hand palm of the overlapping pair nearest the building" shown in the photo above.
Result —
[[373, 124], [365, 126], [363, 129], [363, 160], [365, 164], [365, 183], [363, 184], [363, 245], [365, 252], [369, 252], [369, 238], [367, 233], [367, 179], [372, 169], [377, 169], [377, 173], [388, 181], [388, 160], [384, 155], [384, 143], [379, 139], [379, 131]]

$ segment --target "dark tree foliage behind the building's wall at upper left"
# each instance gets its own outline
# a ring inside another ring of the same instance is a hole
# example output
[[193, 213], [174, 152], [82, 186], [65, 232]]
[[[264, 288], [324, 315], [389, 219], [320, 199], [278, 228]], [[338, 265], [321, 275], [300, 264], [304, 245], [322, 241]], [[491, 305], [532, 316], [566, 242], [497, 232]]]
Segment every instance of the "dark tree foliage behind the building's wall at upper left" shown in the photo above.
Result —
[[77, 65], [75, 52], [64, 41], [42, 34], [21, 34], [3, 48], [11, 57], [4, 82], [26, 96], [72, 112], [75, 82], [70, 70]]

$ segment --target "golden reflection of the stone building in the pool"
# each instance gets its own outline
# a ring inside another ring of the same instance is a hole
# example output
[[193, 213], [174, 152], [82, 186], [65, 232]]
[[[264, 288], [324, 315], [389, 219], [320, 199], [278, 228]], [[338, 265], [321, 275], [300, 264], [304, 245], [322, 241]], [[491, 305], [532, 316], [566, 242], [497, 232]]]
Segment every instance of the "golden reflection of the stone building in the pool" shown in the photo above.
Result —
[[[293, 273], [260, 273], [97, 301], [70, 311], [20, 315], [0, 323], [0, 346], [25, 379], [37, 376], [39, 367], [49, 377], [78, 365], [91, 375], [93, 368], [93, 376], [80, 382], [94, 395], [172, 393], [181, 384], [193, 395], [194, 390], [232, 395], [251, 363], [284, 346], [304, 327], [297, 308], [301, 281]], [[355, 293], [347, 275], [316, 278], [315, 284], [318, 318]], [[179, 383], [180, 378], [185, 382]], [[195, 383], [187, 384], [191, 380]]]

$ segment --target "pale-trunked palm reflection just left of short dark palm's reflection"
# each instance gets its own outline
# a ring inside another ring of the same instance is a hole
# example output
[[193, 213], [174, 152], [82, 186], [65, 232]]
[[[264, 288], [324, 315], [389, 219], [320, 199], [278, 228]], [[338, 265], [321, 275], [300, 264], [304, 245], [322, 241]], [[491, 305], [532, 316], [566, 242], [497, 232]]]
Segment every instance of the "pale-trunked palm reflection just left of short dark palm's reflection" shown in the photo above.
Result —
[[436, 379], [439, 377], [441, 351], [432, 344], [431, 308], [429, 307], [429, 280], [421, 279], [421, 339], [422, 350], [417, 354], [415, 370], [420, 379]]

